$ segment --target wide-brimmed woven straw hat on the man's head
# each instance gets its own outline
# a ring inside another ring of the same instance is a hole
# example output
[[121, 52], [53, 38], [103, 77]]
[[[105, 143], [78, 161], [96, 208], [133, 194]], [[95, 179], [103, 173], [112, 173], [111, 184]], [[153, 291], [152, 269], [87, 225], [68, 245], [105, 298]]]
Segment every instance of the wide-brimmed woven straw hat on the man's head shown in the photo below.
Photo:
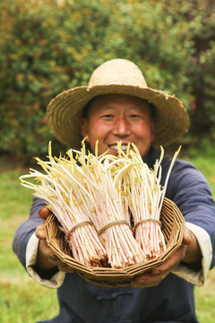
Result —
[[157, 124], [153, 146], [174, 143], [188, 130], [189, 117], [180, 100], [166, 92], [150, 89], [137, 65], [116, 58], [99, 65], [91, 74], [88, 86], [64, 91], [50, 101], [47, 119], [56, 139], [80, 149], [82, 110], [92, 98], [107, 93], [133, 95], [155, 106]]

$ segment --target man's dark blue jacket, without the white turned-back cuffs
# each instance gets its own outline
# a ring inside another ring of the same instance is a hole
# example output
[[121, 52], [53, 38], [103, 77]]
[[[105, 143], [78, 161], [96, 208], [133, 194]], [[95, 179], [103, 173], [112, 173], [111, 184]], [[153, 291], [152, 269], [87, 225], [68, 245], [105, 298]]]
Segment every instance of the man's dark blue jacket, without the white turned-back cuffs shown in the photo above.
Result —
[[[152, 168], [159, 153], [154, 149], [144, 159]], [[170, 159], [162, 162], [164, 184]], [[215, 262], [215, 204], [211, 188], [199, 170], [189, 162], [176, 161], [168, 182], [166, 196], [173, 200], [185, 216], [211, 237], [212, 263]], [[42, 220], [39, 209], [45, 202], [34, 198], [30, 218], [17, 229], [13, 250], [25, 266], [26, 246]], [[41, 276], [46, 278], [44, 273]], [[50, 277], [51, 273], [47, 275]], [[198, 322], [194, 309], [193, 284], [169, 274], [158, 286], [135, 289], [130, 286], [109, 288], [90, 284], [76, 273], [66, 274], [57, 290], [60, 312], [55, 319], [43, 323], [161, 323]]]

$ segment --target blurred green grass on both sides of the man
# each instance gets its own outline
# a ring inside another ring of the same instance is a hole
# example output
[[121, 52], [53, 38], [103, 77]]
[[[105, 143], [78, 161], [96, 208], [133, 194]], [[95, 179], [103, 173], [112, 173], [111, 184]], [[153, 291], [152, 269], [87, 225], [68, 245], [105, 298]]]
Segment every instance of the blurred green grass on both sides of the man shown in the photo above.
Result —
[[[192, 161], [209, 180], [215, 196], [215, 162], [207, 158]], [[13, 235], [27, 220], [31, 192], [22, 188], [19, 176], [29, 170], [0, 159], [0, 322], [35, 323], [58, 313], [56, 290], [36, 284], [13, 254]], [[215, 270], [201, 288], [195, 288], [196, 311], [200, 323], [213, 323], [215, 317]], [[26, 319], [27, 318], [27, 319]]]

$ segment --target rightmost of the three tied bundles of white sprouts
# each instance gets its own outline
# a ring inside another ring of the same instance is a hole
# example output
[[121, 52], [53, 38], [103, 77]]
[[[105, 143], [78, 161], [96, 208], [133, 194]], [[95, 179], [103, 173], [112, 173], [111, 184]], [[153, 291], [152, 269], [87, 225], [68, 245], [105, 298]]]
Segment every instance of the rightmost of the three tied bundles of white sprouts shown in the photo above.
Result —
[[[122, 184], [125, 203], [131, 210], [133, 217], [133, 232], [135, 239], [144, 251], [147, 259], [158, 257], [166, 249], [166, 242], [161, 231], [159, 215], [168, 186], [168, 179], [180, 148], [175, 153], [168, 169], [168, 175], [164, 187], [160, 185], [161, 162], [164, 150], [160, 147], [160, 158], [155, 162], [154, 169], [150, 170], [148, 165], [142, 161], [142, 156], [133, 144], [133, 150], [129, 147], [127, 153], [118, 150], [124, 156], [125, 161], [133, 162], [133, 167], [119, 172], [117, 181]], [[121, 164], [124, 160], [121, 159]], [[120, 180], [118, 177], [120, 175]]]

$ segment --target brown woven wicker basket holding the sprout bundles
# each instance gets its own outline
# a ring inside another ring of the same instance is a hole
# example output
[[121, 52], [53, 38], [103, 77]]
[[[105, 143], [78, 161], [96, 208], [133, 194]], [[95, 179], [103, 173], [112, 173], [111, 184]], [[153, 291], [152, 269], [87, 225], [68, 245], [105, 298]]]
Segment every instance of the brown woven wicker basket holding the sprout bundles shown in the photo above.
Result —
[[168, 198], [164, 199], [161, 214], [161, 229], [167, 243], [167, 249], [158, 258], [141, 262], [122, 269], [109, 267], [86, 266], [75, 260], [66, 240], [64, 232], [59, 230], [59, 223], [56, 216], [51, 214], [45, 223], [47, 232], [47, 245], [52, 249], [58, 258], [66, 265], [71, 266], [79, 275], [93, 284], [109, 287], [125, 286], [136, 276], [149, 271], [161, 262], [166, 260], [178, 249], [183, 240], [185, 219], [176, 204]]

